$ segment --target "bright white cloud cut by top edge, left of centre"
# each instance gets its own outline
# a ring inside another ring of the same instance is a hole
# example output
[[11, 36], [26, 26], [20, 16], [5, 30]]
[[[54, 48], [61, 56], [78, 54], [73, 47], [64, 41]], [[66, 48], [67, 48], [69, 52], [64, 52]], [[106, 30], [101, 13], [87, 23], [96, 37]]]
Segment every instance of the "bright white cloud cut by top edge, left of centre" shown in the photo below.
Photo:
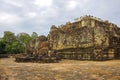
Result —
[[53, 4], [53, 0], [35, 0], [34, 4], [39, 7], [50, 7]]

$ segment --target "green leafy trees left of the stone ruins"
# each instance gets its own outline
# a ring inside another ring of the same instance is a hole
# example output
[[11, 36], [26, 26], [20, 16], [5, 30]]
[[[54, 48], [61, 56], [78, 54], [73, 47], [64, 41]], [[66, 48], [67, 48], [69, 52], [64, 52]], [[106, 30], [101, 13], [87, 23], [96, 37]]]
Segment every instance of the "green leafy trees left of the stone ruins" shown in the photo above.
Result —
[[37, 37], [35, 32], [31, 37], [27, 33], [19, 33], [15, 36], [13, 32], [5, 31], [3, 38], [0, 38], [0, 54], [24, 53], [28, 42], [35, 37]]

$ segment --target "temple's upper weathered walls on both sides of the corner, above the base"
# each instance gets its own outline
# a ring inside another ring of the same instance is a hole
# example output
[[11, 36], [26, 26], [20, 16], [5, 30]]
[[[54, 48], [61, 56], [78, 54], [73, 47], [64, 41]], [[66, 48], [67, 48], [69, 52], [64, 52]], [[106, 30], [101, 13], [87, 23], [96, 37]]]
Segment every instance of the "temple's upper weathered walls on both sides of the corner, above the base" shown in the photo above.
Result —
[[108, 47], [109, 28], [95, 20], [82, 20], [61, 27], [52, 26], [49, 33], [50, 47], [54, 50], [71, 48]]

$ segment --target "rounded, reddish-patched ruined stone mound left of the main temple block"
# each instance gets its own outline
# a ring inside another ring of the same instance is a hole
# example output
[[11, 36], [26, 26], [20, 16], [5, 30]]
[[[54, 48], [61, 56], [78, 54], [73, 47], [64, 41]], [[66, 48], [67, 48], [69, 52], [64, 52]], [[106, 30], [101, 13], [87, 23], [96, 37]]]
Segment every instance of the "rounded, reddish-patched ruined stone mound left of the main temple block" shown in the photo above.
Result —
[[47, 40], [48, 39], [45, 36], [39, 36], [37, 38], [32, 39], [27, 45], [27, 54], [39, 55], [42, 53], [47, 53], [49, 48], [49, 43]]

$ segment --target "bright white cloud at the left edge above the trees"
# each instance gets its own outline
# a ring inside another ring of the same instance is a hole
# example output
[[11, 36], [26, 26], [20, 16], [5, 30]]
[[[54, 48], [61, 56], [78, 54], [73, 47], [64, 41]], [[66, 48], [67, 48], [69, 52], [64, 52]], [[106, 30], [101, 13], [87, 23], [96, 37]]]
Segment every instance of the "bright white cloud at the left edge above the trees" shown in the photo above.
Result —
[[2, 25], [17, 25], [21, 22], [21, 18], [15, 14], [0, 13], [0, 23]]

